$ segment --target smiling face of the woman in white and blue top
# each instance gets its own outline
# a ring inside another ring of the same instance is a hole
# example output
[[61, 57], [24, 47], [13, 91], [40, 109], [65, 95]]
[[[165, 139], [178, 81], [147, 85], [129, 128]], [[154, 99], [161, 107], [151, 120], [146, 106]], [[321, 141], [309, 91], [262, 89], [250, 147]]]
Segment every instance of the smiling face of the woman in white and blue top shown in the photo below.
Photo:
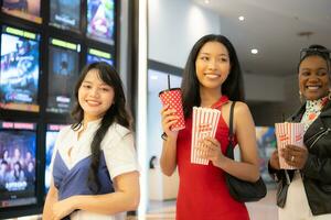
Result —
[[97, 69], [90, 69], [78, 89], [78, 102], [84, 110], [84, 121], [104, 117], [114, 101], [114, 89], [105, 84]]

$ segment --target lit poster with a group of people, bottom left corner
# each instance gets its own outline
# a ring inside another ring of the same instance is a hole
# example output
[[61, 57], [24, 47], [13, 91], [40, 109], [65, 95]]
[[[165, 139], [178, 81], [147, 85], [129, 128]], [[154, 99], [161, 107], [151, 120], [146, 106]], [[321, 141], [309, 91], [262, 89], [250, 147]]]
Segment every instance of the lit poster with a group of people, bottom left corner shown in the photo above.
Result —
[[36, 204], [34, 123], [0, 121], [0, 208]]

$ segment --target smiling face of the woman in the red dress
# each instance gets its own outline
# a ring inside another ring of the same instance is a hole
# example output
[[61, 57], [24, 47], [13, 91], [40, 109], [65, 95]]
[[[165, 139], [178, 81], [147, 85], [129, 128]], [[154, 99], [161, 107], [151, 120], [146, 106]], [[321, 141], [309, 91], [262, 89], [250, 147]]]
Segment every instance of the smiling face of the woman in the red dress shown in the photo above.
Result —
[[228, 52], [218, 42], [205, 43], [195, 61], [196, 77], [202, 89], [218, 89], [226, 80], [231, 69]]

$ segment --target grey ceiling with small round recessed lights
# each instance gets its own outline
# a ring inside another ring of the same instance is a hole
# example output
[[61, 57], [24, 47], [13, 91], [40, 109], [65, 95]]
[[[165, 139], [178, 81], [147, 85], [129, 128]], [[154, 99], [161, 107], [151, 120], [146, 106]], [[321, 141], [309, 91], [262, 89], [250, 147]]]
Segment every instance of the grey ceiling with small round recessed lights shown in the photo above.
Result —
[[[234, 44], [246, 74], [293, 75], [300, 48], [331, 48], [331, 0], [192, 1], [220, 14], [221, 33]], [[312, 34], [299, 36], [300, 32]], [[250, 54], [252, 48], [258, 54]]]

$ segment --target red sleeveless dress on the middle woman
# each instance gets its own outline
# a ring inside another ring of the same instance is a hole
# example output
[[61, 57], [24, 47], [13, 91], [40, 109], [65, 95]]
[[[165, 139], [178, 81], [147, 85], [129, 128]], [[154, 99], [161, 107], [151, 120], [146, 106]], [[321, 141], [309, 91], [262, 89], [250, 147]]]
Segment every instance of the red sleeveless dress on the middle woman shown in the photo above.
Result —
[[[228, 98], [222, 96], [213, 106], [220, 108]], [[234, 200], [226, 187], [224, 172], [209, 165], [191, 164], [192, 118], [185, 121], [186, 128], [179, 132], [177, 160], [180, 187], [177, 200], [177, 220], [249, 220], [245, 204]], [[216, 131], [216, 139], [225, 153], [228, 128], [223, 117]]]

